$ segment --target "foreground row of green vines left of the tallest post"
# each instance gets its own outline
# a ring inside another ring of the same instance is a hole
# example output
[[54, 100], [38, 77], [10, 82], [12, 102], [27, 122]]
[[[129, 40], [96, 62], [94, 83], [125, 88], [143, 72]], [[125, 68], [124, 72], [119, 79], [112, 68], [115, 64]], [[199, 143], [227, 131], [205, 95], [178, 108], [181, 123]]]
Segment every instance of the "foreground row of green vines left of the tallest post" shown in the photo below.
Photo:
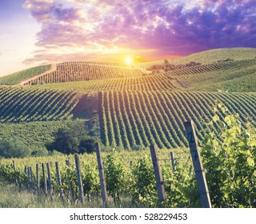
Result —
[[[140, 155], [140, 158], [138, 158], [138, 155]], [[185, 156], [185, 158], [182, 158], [182, 156]], [[191, 187], [191, 190], [187, 191], [182, 198], [177, 197], [179, 194], [177, 190], [182, 185], [189, 187], [195, 184], [191, 162], [189, 161], [186, 168], [183, 169], [185, 162], [188, 162], [185, 152], [179, 150], [177, 157], [179, 157], [180, 163], [176, 163], [176, 171], [173, 173], [170, 165], [170, 152], [162, 150], [160, 154], [162, 174], [166, 180], [166, 195], [169, 198], [162, 206], [200, 206], [196, 188]], [[110, 196], [110, 206], [111, 203], [112, 206], [130, 207], [160, 205], [155, 189], [154, 171], [150, 162], [149, 151], [121, 154], [118, 152], [103, 153], [102, 158], [104, 160], [106, 189]], [[90, 206], [95, 204], [96, 201], [97, 206], [104, 206], [101, 202], [101, 186], [96, 154], [80, 156], [79, 161], [82, 191], [85, 196], [82, 203]], [[16, 159], [14, 162], [2, 160], [0, 177], [10, 182], [17, 182], [19, 191], [26, 190], [41, 197], [51, 198], [53, 201], [62, 200], [66, 206], [70, 203], [73, 206], [79, 204], [81, 198], [79, 196], [78, 170], [73, 155], [58, 156], [51, 158], [51, 160], [49, 158]], [[58, 164], [58, 170], [56, 169], [56, 163]], [[38, 170], [38, 173], [36, 170]], [[184, 178], [182, 184], [178, 182], [181, 173]], [[186, 176], [189, 178], [185, 179]], [[61, 187], [59, 186], [60, 179]], [[182, 187], [184, 193], [186, 187]], [[170, 199], [174, 197], [174, 194], [177, 194], [177, 198]], [[126, 202], [122, 202], [122, 200]]]

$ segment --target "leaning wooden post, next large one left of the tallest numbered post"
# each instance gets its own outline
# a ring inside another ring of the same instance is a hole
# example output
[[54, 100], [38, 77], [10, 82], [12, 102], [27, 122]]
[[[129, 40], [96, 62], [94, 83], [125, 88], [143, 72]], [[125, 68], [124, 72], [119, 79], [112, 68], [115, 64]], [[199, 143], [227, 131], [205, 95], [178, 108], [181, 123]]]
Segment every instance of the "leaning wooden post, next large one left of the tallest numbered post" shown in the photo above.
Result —
[[163, 181], [162, 181], [162, 172], [161, 172], [159, 161], [158, 161], [156, 146], [154, 145], [150, 146], [150, 154], [151, 154], [153, 167], [154, 167], [154, 178], [158, 188], [158, 198], [160, 202], [163, 202], [164, 200], [166, 200], [166, 193], [165, 193], [165, 186], [163, 185]]

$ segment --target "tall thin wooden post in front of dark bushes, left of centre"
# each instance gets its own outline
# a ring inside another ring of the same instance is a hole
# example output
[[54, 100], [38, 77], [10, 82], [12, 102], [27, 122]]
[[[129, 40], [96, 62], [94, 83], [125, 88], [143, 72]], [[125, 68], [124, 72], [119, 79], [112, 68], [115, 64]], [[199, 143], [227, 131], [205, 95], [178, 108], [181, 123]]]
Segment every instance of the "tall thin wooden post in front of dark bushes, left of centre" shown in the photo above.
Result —
[[98, 161], [98, 172], [99, 172], [99, 178], [101, 181], [101, 189], [102, 189], [102, 201], [103, 206], [108, 206], [108, 197], [106, 192], [106, 180], [104, 175], [104, 167], [102, 162], [102, 153], [101, 153], [101, 146], [99, 143], [95, 144], [96, 147], [96, 154], [97, 154], [97, 161]]

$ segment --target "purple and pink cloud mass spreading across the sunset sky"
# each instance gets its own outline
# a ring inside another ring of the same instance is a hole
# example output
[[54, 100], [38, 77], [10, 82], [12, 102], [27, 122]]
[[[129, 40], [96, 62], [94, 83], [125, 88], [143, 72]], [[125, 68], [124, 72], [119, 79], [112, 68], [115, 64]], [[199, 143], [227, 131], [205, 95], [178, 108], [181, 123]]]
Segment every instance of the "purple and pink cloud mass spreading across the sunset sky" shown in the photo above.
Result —
[[117, 49], [161, 56], [256, 47], [255, 1], [188, 2], [28, 0], [24, 6], [42, 25], [36, 42], [42, 51], [26, 62], [51, 60], [54, 55], [62, 59], [68, 54], [110, 54]]

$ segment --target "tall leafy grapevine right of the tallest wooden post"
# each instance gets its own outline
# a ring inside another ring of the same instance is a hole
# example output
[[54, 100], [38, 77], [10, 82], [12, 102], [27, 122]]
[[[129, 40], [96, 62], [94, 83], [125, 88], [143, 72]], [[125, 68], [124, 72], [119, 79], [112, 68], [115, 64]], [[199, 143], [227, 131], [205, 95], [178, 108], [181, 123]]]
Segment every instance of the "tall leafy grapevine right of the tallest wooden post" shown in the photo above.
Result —
[[[225, 107], [219, 104], [220, 110]], [[218, 135], [210, 132], [203, 141], [202, 158], [210, 198], [215, 207], [256, 206], [256, 133], [250, 123], [241, 126], [238, 114], [227, 114]]]

